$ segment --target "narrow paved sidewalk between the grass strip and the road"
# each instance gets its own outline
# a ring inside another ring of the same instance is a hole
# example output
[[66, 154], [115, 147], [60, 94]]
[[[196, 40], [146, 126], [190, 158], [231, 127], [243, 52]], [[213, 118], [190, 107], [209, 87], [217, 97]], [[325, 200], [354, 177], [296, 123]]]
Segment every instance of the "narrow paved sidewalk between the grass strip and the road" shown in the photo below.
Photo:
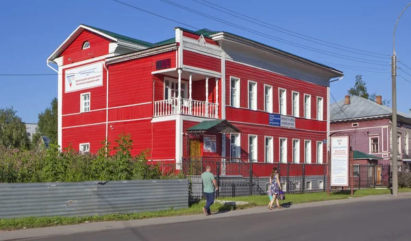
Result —
[[301, 203], [292, 205], [290, 208], [282, 208], [280, 210], [267, 210], [266, 207], [253, 207], [246, 210], [236, 210], [231, 212], [218, 213], [212, 216], [204, 216], [203, 214], [190, 215], [190, 216], [175, 216], [166, 218], [150, 218], [142, 220], [129, 220], [129, 221], [110, 221], [101, 223], [84, 223], [80, 225], [68, 225], [59, 227], [45, 227], [38, 229], [23, 229], [16, 231], [0, 231], [0, 240], [17, 240], [24, 238], [39, 238], [44, 236], [63, 236], [73, 233], [82, 232], [95, 232], [104, 231], [109, 229], [123, 229], [131, 227], [142, 227], [147, 225], [164, 225], [169, 223], [183, 223], [195, 220], [203, 220], [210, 218], [227, 218], [234, 216], [250, 215], [250, 214], [262, 214], [266, 212], [286, 212], [287, 210], [296, 210], [306, 207], [320, 207], [327, 205], [338, 205], [345, 203], [355, 203], [361, 201], [383, 201], [389, 199], [399, 198], [411, 198], [411, 192], [399, 193], [397, 197], [393, 197], [390, 194], [375, 195], [375, 196], [363, 196], [353, 199], [340, 199], [332, 201], [321, 201], [315, 203]]

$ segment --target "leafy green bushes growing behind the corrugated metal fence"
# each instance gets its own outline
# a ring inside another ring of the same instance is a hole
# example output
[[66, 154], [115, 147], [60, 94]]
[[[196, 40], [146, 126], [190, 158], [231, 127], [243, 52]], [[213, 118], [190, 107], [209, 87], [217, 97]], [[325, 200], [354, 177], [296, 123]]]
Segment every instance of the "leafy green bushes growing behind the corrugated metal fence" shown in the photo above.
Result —
[[148, 150], [133, 156], [133, 141], [129, 135], [119, 136], [114, 155], [109, 155], [111, 149], [107, 140], [101, 144], [103, 147], [97, 154], [79, 153], [71, 147], [59, 151], [55, 144], [40, 151], [0, 147], [0, 183], [185, 178], [177, 174], [175, 166], [164, 168], [160, 164], [149, 164]]

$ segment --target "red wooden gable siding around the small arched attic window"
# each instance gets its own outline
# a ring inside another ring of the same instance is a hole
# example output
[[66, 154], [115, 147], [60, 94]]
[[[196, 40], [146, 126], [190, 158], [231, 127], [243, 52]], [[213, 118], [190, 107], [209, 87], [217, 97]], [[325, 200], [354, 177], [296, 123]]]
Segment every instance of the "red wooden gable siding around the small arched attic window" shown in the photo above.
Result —
[[[86, 41], [90, 42], [90, 48], [82, 49]], [[63, 64], [71, 64], [106, 55], [108, 54], [110, 41], [108, 38], [84, 30], [60, 55], [64, 56]]]

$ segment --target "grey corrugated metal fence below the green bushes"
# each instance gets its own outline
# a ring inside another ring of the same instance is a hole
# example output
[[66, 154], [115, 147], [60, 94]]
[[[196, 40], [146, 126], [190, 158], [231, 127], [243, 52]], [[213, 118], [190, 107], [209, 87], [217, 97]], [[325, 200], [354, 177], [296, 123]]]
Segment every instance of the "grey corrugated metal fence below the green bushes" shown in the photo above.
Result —
[[187, 179], [0, 184], [0, 218], [94, 216], [184, 207], [188, 207]]

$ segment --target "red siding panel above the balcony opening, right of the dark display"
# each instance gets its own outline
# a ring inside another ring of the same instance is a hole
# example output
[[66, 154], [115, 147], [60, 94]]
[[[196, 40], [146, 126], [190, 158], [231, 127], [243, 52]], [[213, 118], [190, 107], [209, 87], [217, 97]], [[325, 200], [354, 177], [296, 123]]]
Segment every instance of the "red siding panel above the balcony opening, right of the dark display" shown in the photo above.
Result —
[[221, 60], [187, 50], [183, 51], [183, 64], [218, 73], [221, 72]]

